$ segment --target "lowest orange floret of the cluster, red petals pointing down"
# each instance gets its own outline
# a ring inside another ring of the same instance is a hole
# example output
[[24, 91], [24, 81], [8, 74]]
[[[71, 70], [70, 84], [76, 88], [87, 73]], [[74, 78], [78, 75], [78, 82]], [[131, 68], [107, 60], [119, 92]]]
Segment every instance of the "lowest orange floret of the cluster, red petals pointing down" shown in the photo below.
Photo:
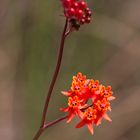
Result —
[[92, 107], [89, 107], [85, 112], [84, 112], [84, 117], [81, 122], [79, 122], [76, 125], [76, 128], [80, 128], [84, 125], [87, 125], [90, 133], [93, 135], [94, 130], [93, 130], [93, 123], [96, 119], [96, 110], [93, 109]]

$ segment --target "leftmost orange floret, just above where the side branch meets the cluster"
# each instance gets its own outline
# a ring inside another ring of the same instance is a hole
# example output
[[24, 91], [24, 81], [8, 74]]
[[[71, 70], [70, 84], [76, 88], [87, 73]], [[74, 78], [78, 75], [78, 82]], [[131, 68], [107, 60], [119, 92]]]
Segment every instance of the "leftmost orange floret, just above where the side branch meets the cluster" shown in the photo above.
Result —
[[70, 122], [75, 115], [82, 118], [83, 113], [80, 109], [85, 108], [87, 105], [82, 103], [83, 101], [79, 99], [78, 96], [68, 98], [68, 107], [61, 108], [63, 112], [68, 112], [67, 122]]

